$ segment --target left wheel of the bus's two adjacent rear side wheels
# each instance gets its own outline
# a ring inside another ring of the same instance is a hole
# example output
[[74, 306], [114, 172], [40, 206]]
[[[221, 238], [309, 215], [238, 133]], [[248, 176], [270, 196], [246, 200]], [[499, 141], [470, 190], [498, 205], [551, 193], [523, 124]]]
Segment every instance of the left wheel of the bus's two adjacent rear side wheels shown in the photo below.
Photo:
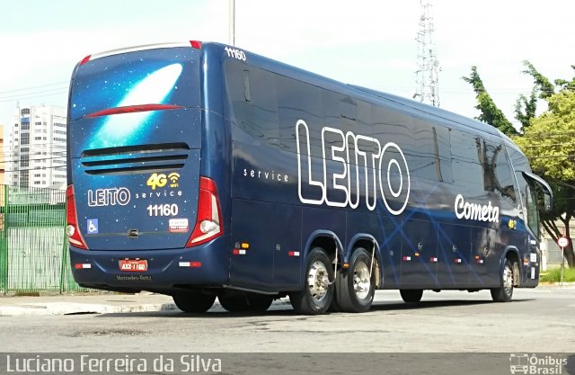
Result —
[[307, 257], [304, 289], [289, 294], [291, 306], [299, 314], [323, 314], [332, 303], [332, 281], [332, 261], [321, 247], [315, 247]]

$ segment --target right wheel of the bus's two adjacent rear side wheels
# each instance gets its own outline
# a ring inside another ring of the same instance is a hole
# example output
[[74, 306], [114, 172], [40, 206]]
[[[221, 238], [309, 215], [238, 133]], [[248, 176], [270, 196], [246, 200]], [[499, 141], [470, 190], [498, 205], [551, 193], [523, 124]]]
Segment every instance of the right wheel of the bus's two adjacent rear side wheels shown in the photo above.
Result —
[[341, 272], [336, 284], [336, 298], [341, 310], [366, 312], [371, 308], [376, 292], [376, 272], [369, 274], [371, 257], [366, 249], [358, 248], [349, 260], [349, 269]]

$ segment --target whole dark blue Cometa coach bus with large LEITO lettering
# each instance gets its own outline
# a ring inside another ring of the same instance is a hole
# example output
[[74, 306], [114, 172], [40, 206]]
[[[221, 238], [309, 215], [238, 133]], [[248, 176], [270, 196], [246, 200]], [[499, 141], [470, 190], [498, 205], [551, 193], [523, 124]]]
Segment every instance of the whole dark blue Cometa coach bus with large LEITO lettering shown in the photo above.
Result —
[[376, 289], [533, 288], [547, 183], [500, 131], [190, 41], [91, 55], [67, 123], [80, 285], [202, 313], [367, 311]]

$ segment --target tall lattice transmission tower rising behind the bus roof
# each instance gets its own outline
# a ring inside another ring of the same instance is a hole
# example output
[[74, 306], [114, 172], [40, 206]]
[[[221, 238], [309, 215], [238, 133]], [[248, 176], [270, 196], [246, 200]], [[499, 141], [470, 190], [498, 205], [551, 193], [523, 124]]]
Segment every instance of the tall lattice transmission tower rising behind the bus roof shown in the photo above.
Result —
[[429, 0], [420, 0], [420, 31], [417, 32], [417, 85], [413, 98], [421, 103], [439, 106], [439, 67], [438, 55], [433, 43], [433, 16], [430, 13]]

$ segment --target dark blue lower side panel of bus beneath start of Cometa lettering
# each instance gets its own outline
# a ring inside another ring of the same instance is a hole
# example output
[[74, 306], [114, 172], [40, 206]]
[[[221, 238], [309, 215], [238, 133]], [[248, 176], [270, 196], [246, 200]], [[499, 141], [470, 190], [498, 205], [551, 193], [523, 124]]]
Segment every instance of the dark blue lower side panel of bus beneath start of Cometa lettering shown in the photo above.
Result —
[[441, 288], [458, 288], [470, 283], [470, 227], [441, 224], [438, 226], [438, 282]]

